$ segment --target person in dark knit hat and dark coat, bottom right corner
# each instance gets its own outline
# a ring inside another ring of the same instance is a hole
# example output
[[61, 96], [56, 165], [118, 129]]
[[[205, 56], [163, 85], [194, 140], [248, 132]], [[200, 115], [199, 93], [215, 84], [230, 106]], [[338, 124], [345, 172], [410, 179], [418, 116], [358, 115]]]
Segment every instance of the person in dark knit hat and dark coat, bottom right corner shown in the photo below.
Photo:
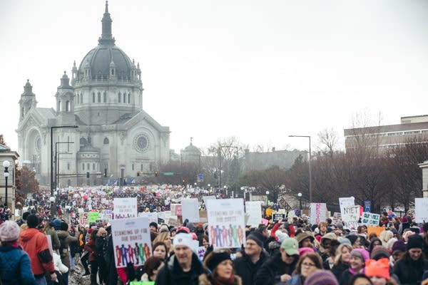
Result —
[[422, 252], [424, 239], [419, 234], [409, 237], [406, 252], [394, 264], [394, 274], [401, 284], [417, 284], [422, 281], [424, 271], [428, 270], [428, 260]]

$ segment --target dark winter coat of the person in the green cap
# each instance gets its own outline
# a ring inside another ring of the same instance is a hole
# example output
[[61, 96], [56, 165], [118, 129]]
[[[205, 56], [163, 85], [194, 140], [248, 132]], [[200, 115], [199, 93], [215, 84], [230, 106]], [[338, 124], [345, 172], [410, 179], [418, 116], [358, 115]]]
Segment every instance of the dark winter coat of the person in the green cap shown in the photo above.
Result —
[[292, 264], [286, 264], [281, 259], [281, 253], [278, 252], [273, 257], [270, 257], [270, 259], [260, 267], [255, 276], [254, 284], [280, 284], [282, 274], [292, 275], [292, 272], [295, 270], [297, 260], [298, 259], [296, 259]]

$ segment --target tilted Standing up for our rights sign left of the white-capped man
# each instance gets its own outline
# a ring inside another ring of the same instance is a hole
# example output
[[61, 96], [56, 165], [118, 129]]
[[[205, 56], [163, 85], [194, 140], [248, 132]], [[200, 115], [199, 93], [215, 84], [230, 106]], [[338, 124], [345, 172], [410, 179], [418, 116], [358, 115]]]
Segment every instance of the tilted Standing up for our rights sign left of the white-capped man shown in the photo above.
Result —
[[128, 262], [142, 266], [151, 257], [147, 217], [111, 220], [111, 237], [116, 268], [126, 267]]

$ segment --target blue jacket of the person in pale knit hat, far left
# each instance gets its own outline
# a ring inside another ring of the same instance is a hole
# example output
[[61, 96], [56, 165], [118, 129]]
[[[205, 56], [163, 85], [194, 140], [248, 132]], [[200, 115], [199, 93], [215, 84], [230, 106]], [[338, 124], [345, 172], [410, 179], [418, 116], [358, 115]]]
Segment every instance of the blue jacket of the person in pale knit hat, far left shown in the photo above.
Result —
[[3, 285], [36, 284], [29, 255], [21, 247], [0, 247], [0, 279]]

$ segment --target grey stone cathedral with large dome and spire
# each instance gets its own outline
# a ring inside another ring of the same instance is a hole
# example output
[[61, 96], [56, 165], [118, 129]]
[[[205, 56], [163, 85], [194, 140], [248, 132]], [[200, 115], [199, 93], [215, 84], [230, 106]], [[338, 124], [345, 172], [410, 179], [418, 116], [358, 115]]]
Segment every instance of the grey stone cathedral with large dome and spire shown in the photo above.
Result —
[[38, 108], [24, 86], [19, 154], [41, 185], [51, 176], [59, 187], [128, 181], [170, 159], [170, 130], [143, 110], [140, 66], [116, 46], [107, 2], [101, 22], [98, 46], [73, 64], [71, 78], [64, 72], [55, 109]]

